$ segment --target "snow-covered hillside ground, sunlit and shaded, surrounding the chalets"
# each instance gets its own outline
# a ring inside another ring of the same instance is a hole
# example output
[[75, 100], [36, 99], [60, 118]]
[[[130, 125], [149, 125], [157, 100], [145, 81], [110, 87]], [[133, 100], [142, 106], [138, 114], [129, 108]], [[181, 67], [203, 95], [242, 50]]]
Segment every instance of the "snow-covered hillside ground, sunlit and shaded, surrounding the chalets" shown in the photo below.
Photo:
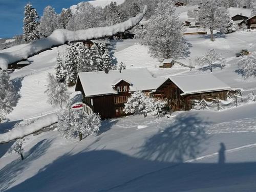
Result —
[[[106, 1], [105, 1], [106, 2]], [[183, 14], [186, 7], [181, 11]], [[232, 11], [232, 10], [231, 10]], [[184, 14], [185, 15], [185, 14]], [[184, 16], [185, 17], [185, 16]], [[216, 37], [186, 35], [190, 44], [188, 65], [214, 48], [226, 60], [213, 74], [245, 94], [256, 91], [256, 79], [244, 80], [236, 72], [235, 53], [256, 53], [256, 31]], [[26, 45], [1, 52], [12, 52]], [[30, 66], [10, 74], [19, 92], [8, 123], [34, 119], [58, 111], [47, 103], [46, 77], [54, 73], [57, 51], [66, 45], [35, 55]], [[205, 67], [175, 65], [160, 69], [161, 63], [148, 54], [137, 39], [111, 41], [111, 54], [127, 68], [147, 68], [154, 76], [209, 73]], [[72, 102], [79, 97], [72, 92]], [[0, 191], [255, 191], [256, 102], [222, 111], [175, 112], [169, 118], [129, 116], [102, 122], [97, 136], [81, 142], [63, 139], [51, 131], [26, 137], [24, 161], [8, 154], [12, 143], [0, 144]], [[225, 150], [220, 150], [223, 143]], [[220, 159], [222, 163], [219, 163]]]

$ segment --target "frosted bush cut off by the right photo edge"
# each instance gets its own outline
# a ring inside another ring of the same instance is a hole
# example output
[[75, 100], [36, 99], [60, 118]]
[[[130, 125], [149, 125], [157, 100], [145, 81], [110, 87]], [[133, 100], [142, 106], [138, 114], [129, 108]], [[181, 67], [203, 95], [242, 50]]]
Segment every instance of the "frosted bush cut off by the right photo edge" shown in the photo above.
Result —
[[238, 68], [244, 78], [256, 77], [256, 56], [244, 56], [238, 62]]

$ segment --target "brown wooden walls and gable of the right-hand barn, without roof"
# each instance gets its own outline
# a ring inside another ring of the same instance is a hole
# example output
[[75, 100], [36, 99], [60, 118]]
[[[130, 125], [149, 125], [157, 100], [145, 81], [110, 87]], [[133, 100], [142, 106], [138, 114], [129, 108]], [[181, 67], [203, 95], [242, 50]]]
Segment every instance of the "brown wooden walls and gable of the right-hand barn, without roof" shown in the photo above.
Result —
[[182, 95], [184, 94], [183, 91], [178, 86], [176, 86], [174, 82], [172, 82], [170, 79], [167, 79], [155, 92], [152, 93], [152, 96], [155, 98], [166, 99], [174, 111], [187, 111], [193, 109], [193, 100], [226, 100], [227, 93], [228, 90]]

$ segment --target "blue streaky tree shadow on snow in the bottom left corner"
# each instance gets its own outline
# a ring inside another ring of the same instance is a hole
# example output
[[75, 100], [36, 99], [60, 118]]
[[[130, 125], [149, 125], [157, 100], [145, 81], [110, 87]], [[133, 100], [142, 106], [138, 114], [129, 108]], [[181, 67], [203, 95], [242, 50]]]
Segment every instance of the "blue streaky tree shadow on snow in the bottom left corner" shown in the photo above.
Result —
[[[26, 172], [26, 168], [32, 162], [44, 155], [47, 149], [51, 146], [52, 140], [41, 140], [33, 146], [28, 152], [24, 153], [24, 160], [22, 161], [18, 154], [18, 158], [5, 167], [0, 169], [0, 191], [7, 189], [17, 179], [17, 175]], [[26, 150], [26, 148], [25, 148]]]

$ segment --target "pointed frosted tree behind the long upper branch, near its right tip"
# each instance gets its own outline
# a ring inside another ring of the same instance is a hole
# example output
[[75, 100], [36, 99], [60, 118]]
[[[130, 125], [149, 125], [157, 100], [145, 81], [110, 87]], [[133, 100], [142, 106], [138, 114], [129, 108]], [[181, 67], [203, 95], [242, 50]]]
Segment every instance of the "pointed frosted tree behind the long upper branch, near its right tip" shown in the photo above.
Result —
[[121, 20], [119, 18], [116, 2], [111, 2], [110, 5], [106, 6], [106, 24], [112, 26], [120, 22]]

